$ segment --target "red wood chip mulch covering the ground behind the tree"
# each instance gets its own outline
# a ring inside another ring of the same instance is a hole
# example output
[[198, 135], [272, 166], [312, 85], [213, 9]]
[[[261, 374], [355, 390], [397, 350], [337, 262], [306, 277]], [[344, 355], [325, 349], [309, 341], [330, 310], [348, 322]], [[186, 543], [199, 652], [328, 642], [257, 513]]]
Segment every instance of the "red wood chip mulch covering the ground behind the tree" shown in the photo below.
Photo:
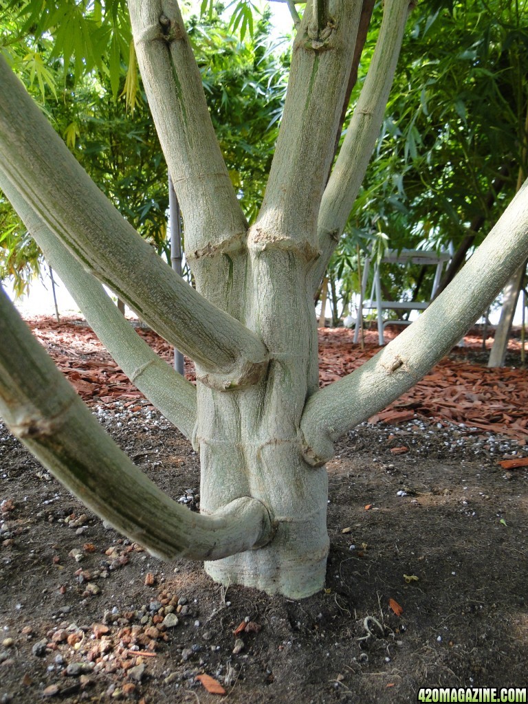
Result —
[[[144, 396], [121, 372], [104, 351], [95, 334], [79, 320], [52, 318], [28, 320], [34, 334], [48, 348], [58, 367], [65, 373], [84, 401], [120, 399], [127, 406], [141, 403]], [[166, 360], [172, 358], [170, 346], [150, 330], [139, 334]], [[396, 333], [387, 331], [388, 339]], [[353, 332], [343, 328], [320, 330], [320, 384], [326, 386], [352, 372], [379, 349], [377, 332], [365, 334], [365, 348], [352, 342]], [[486, 346], [491, 346], [491, 339]], [[415, 417], [415, 413], [437, 422], [465, 423], [478, 431], [504, 434], [528, 441], [528, 372], [526, 369], [503, 367], [488, 369], [480, 360], [482, 340], [467, 336], [465, 348], [458, 356], [479, 358], [479, 363], [444, 358], [408, 393], [370, 422], [396, 424]], [[510, 341], [509, 350], [520, 351], [518, 341]], [[194, 380], [194, 368], [186, 360], [186, 376]]]

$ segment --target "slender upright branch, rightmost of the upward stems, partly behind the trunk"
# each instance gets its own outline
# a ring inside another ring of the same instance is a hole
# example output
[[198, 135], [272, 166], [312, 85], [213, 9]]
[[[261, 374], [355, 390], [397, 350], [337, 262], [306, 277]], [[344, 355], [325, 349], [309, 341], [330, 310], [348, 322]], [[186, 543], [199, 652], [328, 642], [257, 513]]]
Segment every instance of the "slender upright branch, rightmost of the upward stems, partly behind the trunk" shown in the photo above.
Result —
[[319, 286], [345, 228], [379, 136], [409, 7], [409, 0], [385, 2], [382, 26], [370, 68], [322, 196], [318, 219], [318, 239], [322, 253], [313, 267], [314, 290]]

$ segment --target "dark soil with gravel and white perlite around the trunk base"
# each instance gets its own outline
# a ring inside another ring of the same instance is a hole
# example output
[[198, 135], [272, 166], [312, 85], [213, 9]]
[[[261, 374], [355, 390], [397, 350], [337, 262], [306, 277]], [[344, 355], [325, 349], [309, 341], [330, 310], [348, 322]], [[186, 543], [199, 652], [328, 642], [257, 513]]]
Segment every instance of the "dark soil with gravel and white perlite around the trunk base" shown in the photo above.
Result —
[[[61, 330], [49, 347], [63, 365], [82, 377], [95, 353], [104, 362], [78, 325]], [[478, 353], [460, 354], [484, 374]], [[198, 459], [177, 430], [137, 394], [107, 388], [92, 408], [149, 477], [198, 508]], [[398, 703], [420, 687], [524, 686], [528, 467], [499, 464], [527, 455], [524, 435], [434, 413], [373, 420], [327, 465], [327, 582], [300, 602], [152, 558], [0, 425], [0, 703]]]

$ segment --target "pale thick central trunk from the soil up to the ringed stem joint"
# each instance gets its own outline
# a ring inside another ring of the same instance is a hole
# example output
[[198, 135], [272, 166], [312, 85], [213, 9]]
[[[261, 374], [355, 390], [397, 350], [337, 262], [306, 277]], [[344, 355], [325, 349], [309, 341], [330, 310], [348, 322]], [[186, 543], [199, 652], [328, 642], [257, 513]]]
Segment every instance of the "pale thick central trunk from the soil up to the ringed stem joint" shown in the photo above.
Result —
[[[271, 362], [252, 389], [226, 394], [198, 386], [201, 510], [214, 511], [234, 497], [260, 497], [271, 507], [277, 534], [266, 548], [206, 562], [206, 571], [222, 584], [301, 598], [324, 584], [329, 546], [327, 474], [309, 467], [299, 445], [302, 409], [318, 387], [313, 294], [303, 258], [260, 251], [253, 240], [249, 259], [258, 296], [246, 325], [265, 341]], [[280, 301], [284, 308], [277, 310]]]

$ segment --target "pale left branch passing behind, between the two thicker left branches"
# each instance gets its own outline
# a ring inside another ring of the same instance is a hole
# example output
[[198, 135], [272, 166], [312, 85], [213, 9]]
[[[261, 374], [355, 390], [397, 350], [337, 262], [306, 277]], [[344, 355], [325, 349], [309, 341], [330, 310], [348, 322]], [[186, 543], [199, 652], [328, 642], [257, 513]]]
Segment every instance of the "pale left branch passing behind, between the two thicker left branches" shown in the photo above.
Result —
[[63, 280], [84, 318], [139, 391], [192, 439], [196, 389], [149, 347], [114, 306], [103, 286], [71, 255], [34, 214], [0, 171], [0, 187], [13, 203], [49, 265]]

